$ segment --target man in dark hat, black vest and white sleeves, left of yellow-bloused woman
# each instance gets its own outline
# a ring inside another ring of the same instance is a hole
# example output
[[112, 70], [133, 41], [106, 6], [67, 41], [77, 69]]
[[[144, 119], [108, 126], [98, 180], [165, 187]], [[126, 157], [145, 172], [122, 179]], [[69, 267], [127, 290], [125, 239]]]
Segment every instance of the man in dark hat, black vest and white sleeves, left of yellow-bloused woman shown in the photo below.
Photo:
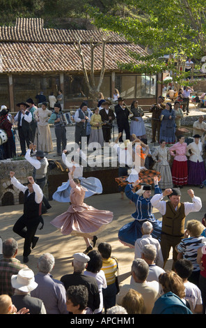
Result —
[[75, 121], [75, 143], [81, 149], [81, 138], [86, 137], [86, 126], [88, 119], [88, 105], [87, 103], [81, 103], [79, 110], [74, 114]]

